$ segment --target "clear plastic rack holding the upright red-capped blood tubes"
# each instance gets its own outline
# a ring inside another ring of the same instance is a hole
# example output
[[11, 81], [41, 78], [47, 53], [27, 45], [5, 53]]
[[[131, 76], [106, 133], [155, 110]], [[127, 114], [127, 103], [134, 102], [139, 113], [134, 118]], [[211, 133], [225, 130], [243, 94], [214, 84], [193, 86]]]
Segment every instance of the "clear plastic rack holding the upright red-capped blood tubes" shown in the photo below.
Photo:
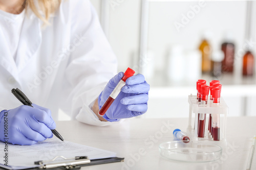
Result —
[[[198, 102], [197, 95], [188, 95], [188, 103], [189, 103], [189, 117], [188, 117], [188, 128], [187, 133], [190, 134], [191, 138], [193, 140], [200, 140], [200, 141], [213, 141], [213, 142], [219, 142], [214, 141], [210, 134], [208, 133], [208, 124], [205, 124], [205, 133], [204, 137], [198, 137], [198, 113], [204, 113], [206, 114], [206, 123], [207, 117], [209, 117], [209, 114], [220, 114], [221, 116], [221, 122], [220, 122], [220, 141], [226, 142], [226, 120], [227, 120], [227, 114], [228, 114], [228, 107], [224, 101], [224, 99], [220, 98], [220, 103], [215, 104], [210, 99], [207, 101], [207, 105], [201, 104], [201, 102]], [[193, 124], [193, 113], [195, 115], [195, 123]], [[195, 128], [194, 128], [195, 127]]]

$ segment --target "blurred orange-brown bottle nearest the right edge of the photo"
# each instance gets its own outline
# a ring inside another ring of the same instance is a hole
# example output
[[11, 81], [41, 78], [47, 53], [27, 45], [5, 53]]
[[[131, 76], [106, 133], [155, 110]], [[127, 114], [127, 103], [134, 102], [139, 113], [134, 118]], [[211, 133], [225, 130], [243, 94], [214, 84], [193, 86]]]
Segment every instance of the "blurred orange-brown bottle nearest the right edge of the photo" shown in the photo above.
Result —
[[247, 51], [243, 58], [243, 76], [253, 76], [254, 57], [250, 51]]

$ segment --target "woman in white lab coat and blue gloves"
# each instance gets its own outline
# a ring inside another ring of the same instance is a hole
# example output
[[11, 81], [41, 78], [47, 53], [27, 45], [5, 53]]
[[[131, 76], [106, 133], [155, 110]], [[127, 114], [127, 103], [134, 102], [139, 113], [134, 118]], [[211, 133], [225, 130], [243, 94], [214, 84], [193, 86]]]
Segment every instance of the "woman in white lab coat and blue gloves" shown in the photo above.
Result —
[[[9, 143], [52, 137], [59, 109], [97, 126], [147, 110], [150, 86], [138, 74], [98, 115], [123, 72], [114, 76], [117, 61], [89, 0], [0, 0], [0, 39], [1, 141], [5, 122]], [[37, 105], [20, 106], [10, 92], [16, 87]]]

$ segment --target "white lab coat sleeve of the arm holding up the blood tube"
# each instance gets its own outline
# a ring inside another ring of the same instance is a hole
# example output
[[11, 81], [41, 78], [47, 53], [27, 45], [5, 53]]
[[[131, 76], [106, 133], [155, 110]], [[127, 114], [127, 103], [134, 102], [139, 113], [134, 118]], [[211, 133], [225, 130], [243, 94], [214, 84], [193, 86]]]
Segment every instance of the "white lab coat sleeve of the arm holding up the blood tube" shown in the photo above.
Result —
[[76, 41], [66, 69], [72, 87], [72, 118], [105, 126], [92, 111], [92, 105], [108, 81], [117, 73], [117, 59], [106, 39], [97, 14], [89, 1], [70, 0], [71, 41]]

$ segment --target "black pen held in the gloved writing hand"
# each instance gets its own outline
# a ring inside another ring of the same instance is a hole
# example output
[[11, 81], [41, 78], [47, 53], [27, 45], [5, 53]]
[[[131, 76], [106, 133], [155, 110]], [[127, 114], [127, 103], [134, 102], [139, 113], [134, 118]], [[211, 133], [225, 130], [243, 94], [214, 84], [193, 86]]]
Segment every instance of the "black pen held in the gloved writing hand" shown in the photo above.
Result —
[[[12, 89], [12, 93], [15, 95], [15, 97], [20, 101], [22, 102], [24, 105], [27, 105], [27, 106], [32, 106], [32, 102], [30, 102], [30, 100], [27, 98], [27, 96], [21, 91], [19, 90], [18, 88], [16, 89]], [[55, 129], [51, 129], [52, 133], [57, 137], [59, 138], [60, 140], [64, 141], [64, 139], [61, 137], [61, 135], [55, 130]]]

